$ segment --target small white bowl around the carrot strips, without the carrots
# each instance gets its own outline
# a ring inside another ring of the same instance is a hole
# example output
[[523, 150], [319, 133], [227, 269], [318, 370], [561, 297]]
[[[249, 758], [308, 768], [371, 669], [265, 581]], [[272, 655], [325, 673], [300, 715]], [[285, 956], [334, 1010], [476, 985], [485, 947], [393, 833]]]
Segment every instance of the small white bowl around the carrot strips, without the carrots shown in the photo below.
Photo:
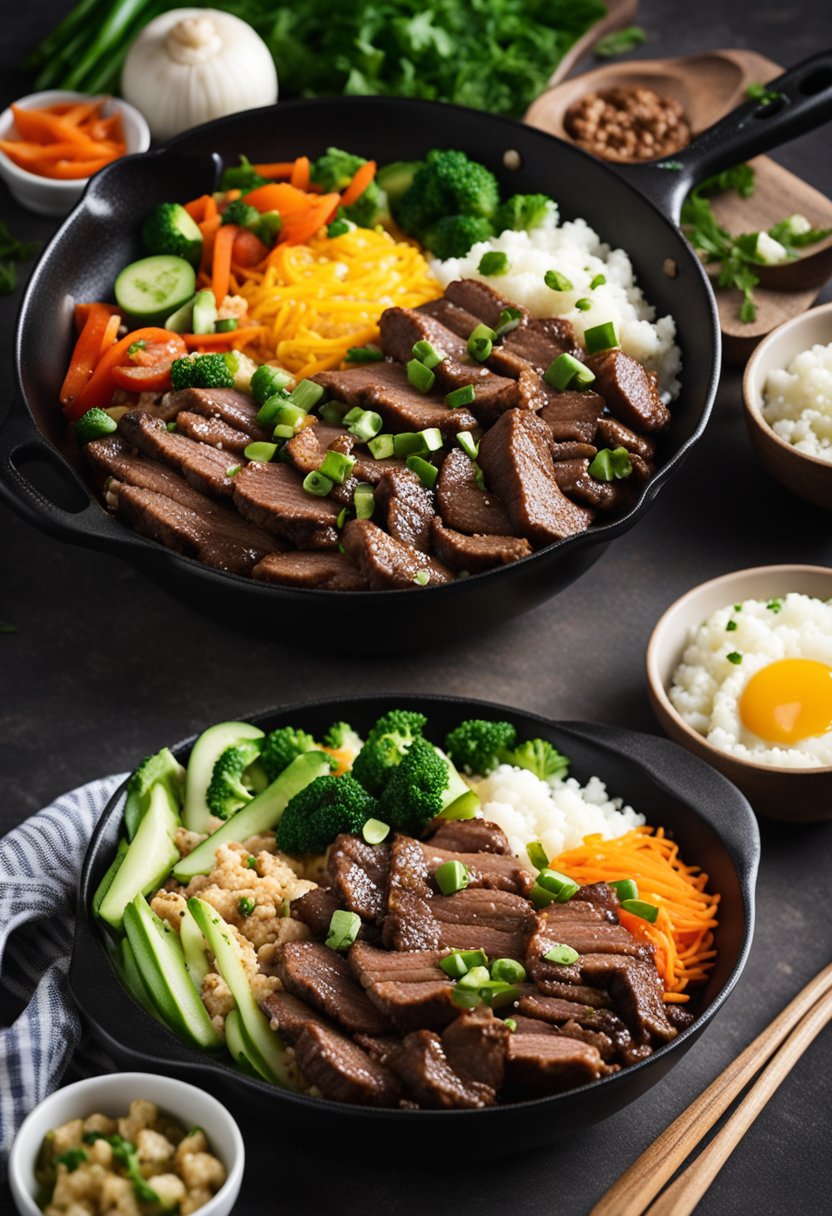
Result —
[[[45, 92], [32, 92], [28, 97], [21, 97], [15, 102], [23, 109], [34, 109], [39, 106], [54, 106], [61, 101], [88, 101], [89, 95], [84, 92], [71, 92], [67, 89], [49, 89]], [[127, 156], [134, 152], [146, 152], [150, 147], [150, 128], [135, 106], [128, 105], [120, 97], [108, 97], [102, 114], [105, 118], [114, 113], [122, 116], [122, 129], [124, 142], [127, 143]], [[15, 116], [11, 108], [4, 109], [0, 114], [0, 139], [6, 140], [17, 135]], [[38, 212], [39, 215], [66, 215], [72, 210], [80, 196], [89, 178], [72, 178], [66, 181], [54, 178], [40, 178], [36, 173], [21, 169], [19, 165], [10, 161], [5, 152], [0, 152], [0, 176], [9, 186], [17, 202], [27, 210]]]

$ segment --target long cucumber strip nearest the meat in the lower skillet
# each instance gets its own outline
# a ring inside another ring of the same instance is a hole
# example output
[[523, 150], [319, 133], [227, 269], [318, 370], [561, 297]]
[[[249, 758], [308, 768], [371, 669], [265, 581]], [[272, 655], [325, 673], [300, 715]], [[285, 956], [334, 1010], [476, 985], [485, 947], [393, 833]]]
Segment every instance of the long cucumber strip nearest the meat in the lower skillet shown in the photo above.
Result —
[[217, 969], [229, 985], [236, 1002], [244, 1054], [257, 1071], [266, 1075], [269, 1080], [287, 1088], [297, 1088], [283, 1041], [269, 1025], [266, 1015], [254, 1000], [248, 985], [240, 946], [230, 925], [204, 900], [192, 896], [187, 901], [187, 906], [202, 929], [203, 936], [214, 953]]

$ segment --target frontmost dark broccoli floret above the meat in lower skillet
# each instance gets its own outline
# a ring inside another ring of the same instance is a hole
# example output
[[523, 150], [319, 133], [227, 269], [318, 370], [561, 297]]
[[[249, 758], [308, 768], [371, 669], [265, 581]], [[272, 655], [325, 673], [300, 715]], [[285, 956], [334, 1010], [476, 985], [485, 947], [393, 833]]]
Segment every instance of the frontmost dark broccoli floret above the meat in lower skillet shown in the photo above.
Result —
[[352, 777], [317, 777], [289, 801], [277, 824], [277, 848], [291, 857], [324, 852], [342, 832], [360, 832], [376, 799]]

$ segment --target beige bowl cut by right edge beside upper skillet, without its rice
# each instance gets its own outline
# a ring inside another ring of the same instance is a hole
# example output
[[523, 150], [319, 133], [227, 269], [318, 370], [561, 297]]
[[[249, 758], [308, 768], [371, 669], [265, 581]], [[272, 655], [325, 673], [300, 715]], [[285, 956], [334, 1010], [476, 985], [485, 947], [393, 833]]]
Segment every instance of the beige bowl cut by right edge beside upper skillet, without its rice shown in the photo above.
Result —
[[763, 417], [769, 372], [788, 367], [802, 350], [832, 342], [832, 304], [822, 304], [772, 330], [748, 360], [742, 378], [746, 426], [754, 451], [769, 473], [800, 499], [832, 511], [832, 461], [798, 451]]

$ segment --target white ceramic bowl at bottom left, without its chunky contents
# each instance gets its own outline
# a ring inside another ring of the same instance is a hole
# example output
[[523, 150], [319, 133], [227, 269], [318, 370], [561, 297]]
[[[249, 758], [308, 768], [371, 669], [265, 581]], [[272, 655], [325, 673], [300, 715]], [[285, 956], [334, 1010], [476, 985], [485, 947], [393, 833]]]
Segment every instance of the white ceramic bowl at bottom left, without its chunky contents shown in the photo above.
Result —
[[9, 1156], [9, 1184], [21, 1216], [41, 1216], [35, 1203], [35, 1159], [46, 1132], [71, 1119], [102, 1113], [127, 1115], [136, 1098], [154, 1102], [186, 1128], [202, 1127], [208, 1147], [227, 1171], [224, 1187], [199, 1209], [199, 1216], [230, 1216], [242, 1184], [246, 1150], [237, 1124], [204, 1090], [156, 1073], [112, 1073], [56, 1090], [23, 1120]]

